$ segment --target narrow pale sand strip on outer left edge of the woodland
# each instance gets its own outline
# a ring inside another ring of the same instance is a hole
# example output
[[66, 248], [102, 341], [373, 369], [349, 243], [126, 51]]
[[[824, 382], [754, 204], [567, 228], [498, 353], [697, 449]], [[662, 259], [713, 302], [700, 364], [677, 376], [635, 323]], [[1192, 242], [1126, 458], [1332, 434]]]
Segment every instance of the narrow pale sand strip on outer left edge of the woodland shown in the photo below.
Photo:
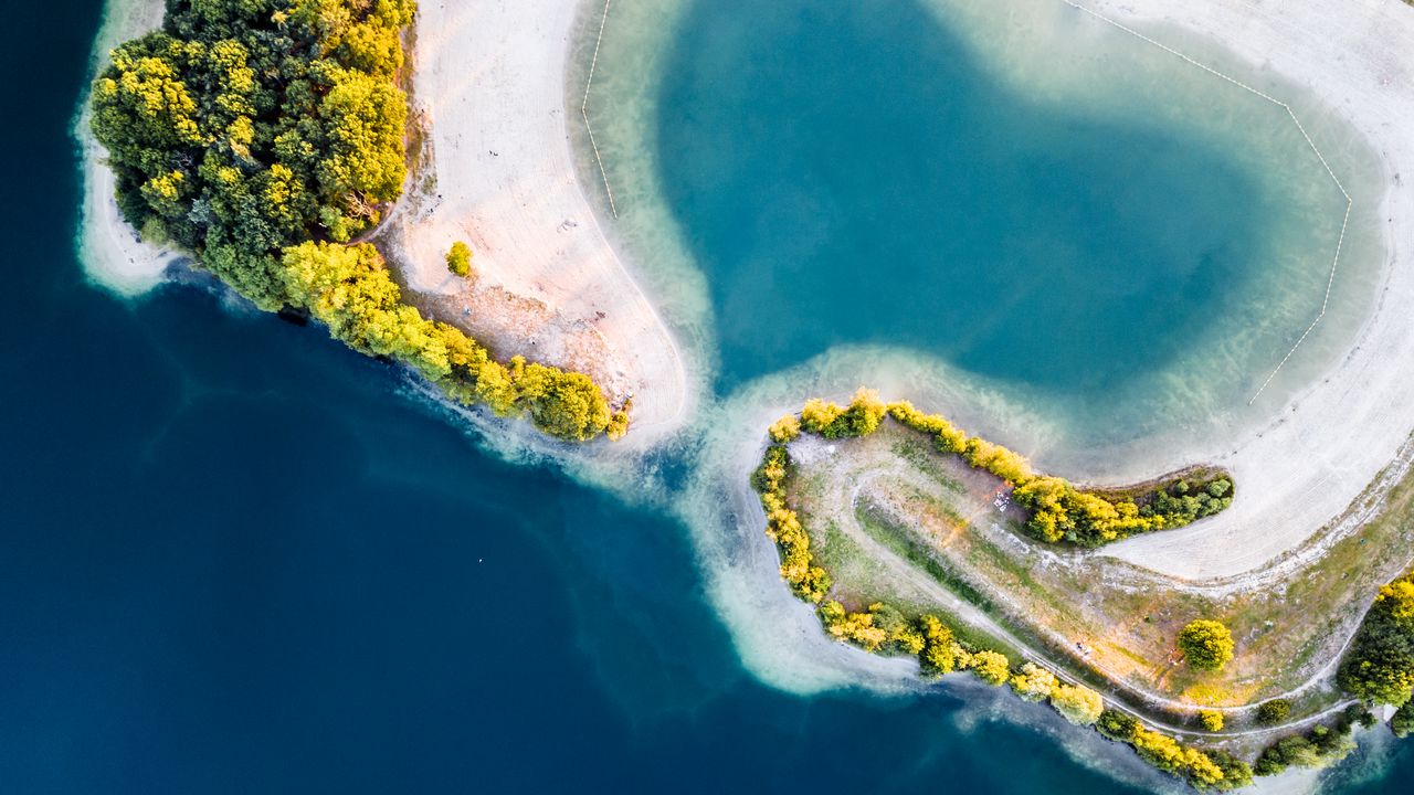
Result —
[[[93, 42], [93, 74], [107, 64], [107, 52], [163, 23], [163, 0], [109, 0], [107, 17]], [[83, 157], [83, 221], [79, 228], [79, 262], [88, 277], [123, 296], [144, 293], [163, 282], [178, 255], [144, 243], [129, 226], [113, 199], [113, 173], [103, 164], [107, 153], [89, 132], [88, 93], [75, 119], [74, 137]]]

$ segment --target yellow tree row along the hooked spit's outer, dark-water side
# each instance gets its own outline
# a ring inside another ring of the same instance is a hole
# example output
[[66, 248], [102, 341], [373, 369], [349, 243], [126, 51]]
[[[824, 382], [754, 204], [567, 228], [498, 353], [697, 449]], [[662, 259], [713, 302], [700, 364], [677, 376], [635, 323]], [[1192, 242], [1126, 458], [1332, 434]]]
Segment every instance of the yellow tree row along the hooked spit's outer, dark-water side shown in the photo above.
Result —
[[817, 615], [824, 631], [871, 654], [915, 656], [921, 673], [928, 678], [966, 671], [991, 686], [1010, 685], [1021, 699], [1045, 700], [1070, 723], [1096, 726], [1106, 737], [1133, 745], [1154, 767], [1179, 775], [1199, 789], [1236, 789], [1250, 784], [1253, 771], [1247, 762], [1223, 751], [1184, 745], [1145, 729], [1124, 713], [1107, 710], [1100, 693], [1083, 685], [1065, 683], [1035, 662], [1012, 668], [1007, 655], [957, 638], [940, 615], [908, 617], [884, 603], [850, 611], [840, 601], [826, 598], [831, 587], [830, 574], [814, 564], [810, 536], [786, 501], [788, 481], [793, 474], [786, 443], [802, 430], [833, 434], [831, 439], [871, 433], [885, 414], [881, 406], [871, 393], [861, 393], [847, 409], [812, 402], [799, 419], [782, 417], [772, 424], [773, 444], [766, 447], [761, 465], [752, 474], [752, 485], [766, 513], [766, 535], [776, 542], [781, 553], [781, 576], [796, 596], [819, 604]]

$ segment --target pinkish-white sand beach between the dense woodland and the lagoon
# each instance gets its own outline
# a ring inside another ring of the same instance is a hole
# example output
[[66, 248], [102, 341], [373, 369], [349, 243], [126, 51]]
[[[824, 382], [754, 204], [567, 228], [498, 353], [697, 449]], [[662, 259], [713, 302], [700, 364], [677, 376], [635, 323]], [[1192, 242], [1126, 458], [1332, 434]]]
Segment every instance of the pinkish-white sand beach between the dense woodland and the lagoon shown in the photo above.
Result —
[[[411, 289], [444, 296], [458, 310], [445, 320], [465, 318], [498, 354], [574, 366], [632, 395], [625, 443], [646, 444], [686, 420], [691, 395], [677, 345], [575, 177], [570, 124], [583, 120], [566, 76], [581, 10], [597, 28], [602, 3], [421, 3], [413, 93], [431, 171], [414, 177], [383, 240]], [[475, 252], [475, 294], [447, 274], [454, 240]]]

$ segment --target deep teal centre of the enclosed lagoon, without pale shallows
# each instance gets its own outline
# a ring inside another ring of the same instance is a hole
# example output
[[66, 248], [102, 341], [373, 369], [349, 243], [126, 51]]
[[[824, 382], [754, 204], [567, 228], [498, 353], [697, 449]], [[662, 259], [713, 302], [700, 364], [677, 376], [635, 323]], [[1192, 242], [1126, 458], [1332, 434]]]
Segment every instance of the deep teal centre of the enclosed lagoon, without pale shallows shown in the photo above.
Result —
[[874, 342], [1103, 399], [1270, 259], [1253, 174], [1181, 130], [1038, 105], [918, 0], [694, 0], [659, 92], [725, 385]]

